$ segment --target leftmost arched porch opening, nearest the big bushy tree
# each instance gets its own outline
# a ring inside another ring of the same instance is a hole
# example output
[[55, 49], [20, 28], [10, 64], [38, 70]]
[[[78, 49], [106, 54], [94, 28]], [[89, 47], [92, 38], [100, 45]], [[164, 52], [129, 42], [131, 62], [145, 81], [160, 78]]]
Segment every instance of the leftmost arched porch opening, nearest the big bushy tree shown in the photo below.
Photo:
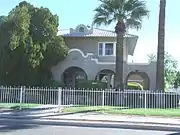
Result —
[[64, 71], [62, 80], [65, 86], [76, 87], [78, 81], [87, 80], [87, 74], [79, 67], [69, 67]]

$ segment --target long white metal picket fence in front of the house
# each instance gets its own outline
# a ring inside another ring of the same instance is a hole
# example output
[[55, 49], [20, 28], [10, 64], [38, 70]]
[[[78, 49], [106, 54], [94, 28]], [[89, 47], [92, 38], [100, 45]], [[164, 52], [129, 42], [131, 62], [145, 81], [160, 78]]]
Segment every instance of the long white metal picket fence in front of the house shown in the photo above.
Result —
[[[59, 109], [71, 107], [81, 111], [87, 108], [112, 109], [179, 109], [179, 94], [176, 92], [115, 91], [62, 88], [0, 87], [1, 104], [57, 105]], [[67, 109], [67, 110], [68, 110]], [[72, 111], [72, 110], [70, 110]], [[179, 109], [180, 111], [180, 109]], [[180, 114], [179, 114], [180, 115]]]

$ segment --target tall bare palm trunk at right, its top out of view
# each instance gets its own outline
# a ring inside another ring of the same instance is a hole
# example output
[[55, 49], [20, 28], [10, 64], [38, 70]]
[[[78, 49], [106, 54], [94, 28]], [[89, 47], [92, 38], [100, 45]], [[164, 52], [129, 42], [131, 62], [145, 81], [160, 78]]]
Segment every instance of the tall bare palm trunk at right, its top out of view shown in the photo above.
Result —
[[164, 40], [166, 0], [160, 0], [156, 89], [164, 91]]

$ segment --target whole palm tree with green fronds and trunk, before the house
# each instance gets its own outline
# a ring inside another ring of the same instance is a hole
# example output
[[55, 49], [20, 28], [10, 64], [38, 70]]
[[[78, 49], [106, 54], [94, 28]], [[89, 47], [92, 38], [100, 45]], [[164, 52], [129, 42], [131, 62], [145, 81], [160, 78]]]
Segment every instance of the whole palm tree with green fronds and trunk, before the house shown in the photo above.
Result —
[[142, 19], [149, 15], [146, 3], [141, 0], [99, 0], [101, 4], [94, 11], [93, 24], [110, 25], [115, 22], [116, 32], [116, 74], [115, 87], [124, 89], [123, 81], [123, 38], [126, 30], [135, 28], [139, 30], [142, 26]]

